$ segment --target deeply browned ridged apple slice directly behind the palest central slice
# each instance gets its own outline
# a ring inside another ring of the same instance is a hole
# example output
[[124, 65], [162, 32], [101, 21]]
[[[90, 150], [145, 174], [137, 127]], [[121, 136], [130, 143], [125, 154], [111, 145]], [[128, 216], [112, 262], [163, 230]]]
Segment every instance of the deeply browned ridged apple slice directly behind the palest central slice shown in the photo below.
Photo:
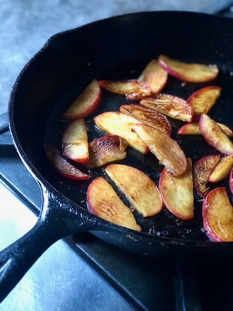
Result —
[[155, 127], [167, 135], [171, 134], [171, 123], [167, 120], [166, 116], [153, 109], [137, 104], [125, 104], [120, 106], [120, 112], [126, 113], [145, 124]]

